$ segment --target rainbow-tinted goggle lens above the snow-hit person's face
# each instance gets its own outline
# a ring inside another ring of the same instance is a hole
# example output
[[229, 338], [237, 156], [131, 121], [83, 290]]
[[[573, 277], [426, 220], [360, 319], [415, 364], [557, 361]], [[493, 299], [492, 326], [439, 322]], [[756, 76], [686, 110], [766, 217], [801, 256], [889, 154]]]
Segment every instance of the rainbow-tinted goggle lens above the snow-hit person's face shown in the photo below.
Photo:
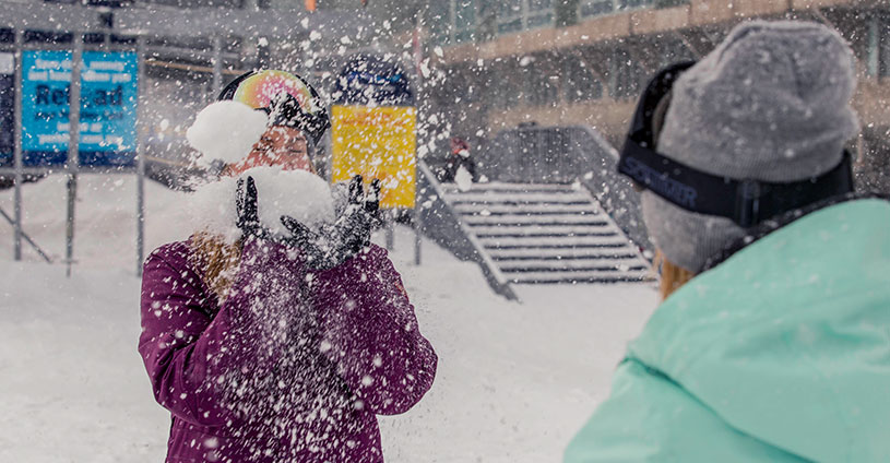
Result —
[[294, 97], [304, 112], [318, 112], [318, 102], [312, 91], [301, 79], [284, 71], [260, 71], [238, 84], [232, 99], [244, 103], [253, 109], [270, 108], [281, 94]]

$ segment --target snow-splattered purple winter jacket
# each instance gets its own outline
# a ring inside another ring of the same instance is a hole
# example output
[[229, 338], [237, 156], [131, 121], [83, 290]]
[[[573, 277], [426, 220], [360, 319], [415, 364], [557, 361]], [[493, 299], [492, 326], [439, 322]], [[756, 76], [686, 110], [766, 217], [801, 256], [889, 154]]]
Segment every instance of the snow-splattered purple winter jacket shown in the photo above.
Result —
[[170, 411], [168, 463], [382, 462], [376, 415], [411, 408], [437, 357], [385, 250], [310, 272], [248, 240], [218, 304], [188, 241], [142, 278], [139, 352]]

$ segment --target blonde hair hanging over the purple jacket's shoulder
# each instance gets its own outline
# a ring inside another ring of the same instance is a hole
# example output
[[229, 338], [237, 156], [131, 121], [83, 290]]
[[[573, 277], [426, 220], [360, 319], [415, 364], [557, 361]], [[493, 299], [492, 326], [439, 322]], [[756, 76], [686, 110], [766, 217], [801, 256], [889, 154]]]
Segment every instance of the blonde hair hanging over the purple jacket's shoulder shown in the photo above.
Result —
[[241, 263], [241, 240], [227, 244], [221, 236], [199, 232], [191, 236], [192, 264], [222, 304]]

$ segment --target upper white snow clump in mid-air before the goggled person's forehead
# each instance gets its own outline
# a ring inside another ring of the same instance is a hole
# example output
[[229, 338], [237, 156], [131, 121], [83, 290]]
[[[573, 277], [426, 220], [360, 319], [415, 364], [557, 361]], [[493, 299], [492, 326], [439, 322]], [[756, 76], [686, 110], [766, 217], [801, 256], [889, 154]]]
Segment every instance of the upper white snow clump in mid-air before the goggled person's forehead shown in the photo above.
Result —
[[198, 159], [202, 164], [213, 159], [235, 163], [260, 140], [268, 119], [265, 112], [244, 103], [216, 102], [198, 112], [186, 139], [203, 155]]

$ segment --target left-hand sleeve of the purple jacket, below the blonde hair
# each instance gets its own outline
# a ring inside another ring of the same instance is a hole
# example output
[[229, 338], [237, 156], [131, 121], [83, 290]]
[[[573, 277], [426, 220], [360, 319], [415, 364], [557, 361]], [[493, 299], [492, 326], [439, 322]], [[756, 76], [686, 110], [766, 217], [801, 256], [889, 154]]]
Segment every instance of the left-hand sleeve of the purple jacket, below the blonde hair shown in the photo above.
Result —
[[288, 269], [300, 264], [281, 249], [249, 241], [232, 293], [216, 312], [216, 298], [188, 256], [188, 245], [177, 242], [145, 261], [139, 352], [161, 405], [192, 424], [230, 426], [239, 418], [224, 405], [222, 382], [232, 371], [266, 375], [284, 351], [283, 336], [269, 330], [276, 325], [276, 314], [259, 308], [274, 307], [263, 300], [273, 294], [296, 293], [288, 300], [299, 300], [293, 284], [298, 272]]

